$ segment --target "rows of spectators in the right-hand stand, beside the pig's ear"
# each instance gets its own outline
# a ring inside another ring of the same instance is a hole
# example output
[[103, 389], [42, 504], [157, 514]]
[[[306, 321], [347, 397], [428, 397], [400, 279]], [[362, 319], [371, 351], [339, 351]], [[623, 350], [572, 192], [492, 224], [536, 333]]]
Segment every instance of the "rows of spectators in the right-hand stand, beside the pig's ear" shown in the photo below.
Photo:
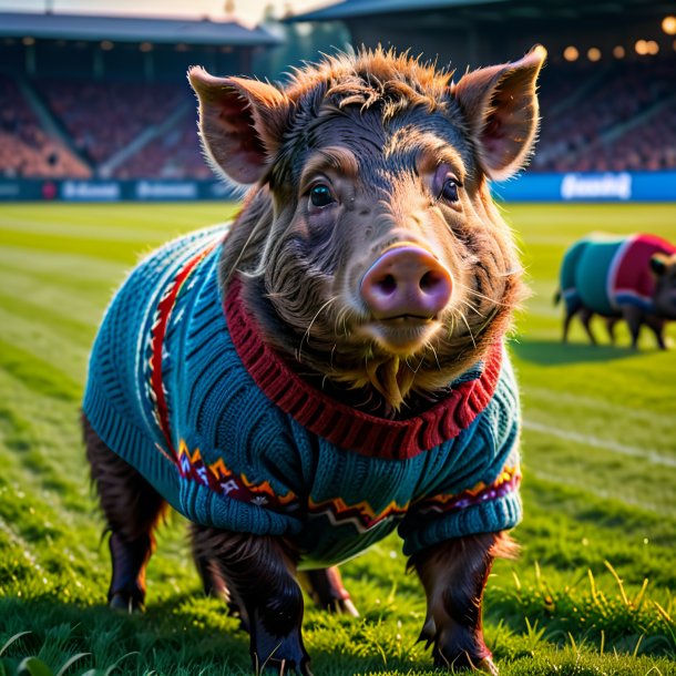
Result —
[[[557, 79], [576, 89], [566, 96]], [[554, 75], [552, 78], [552, 75]], [[573, 75], [573, 78], [570, 78]], [[676, 59], [551, 69], [534, 171], [676, 167]], [[566, 105], [567, 103], [567, 105]]]

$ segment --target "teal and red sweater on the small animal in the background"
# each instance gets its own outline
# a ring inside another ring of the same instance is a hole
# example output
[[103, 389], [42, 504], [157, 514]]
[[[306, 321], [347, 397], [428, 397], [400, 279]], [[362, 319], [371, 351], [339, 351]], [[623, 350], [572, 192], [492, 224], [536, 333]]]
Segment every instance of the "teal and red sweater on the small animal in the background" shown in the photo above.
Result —
[[655, 279], [651, 258], [676, 254], [676, 247], [655, 235], [587, 237], [566, 253], [561, 267], [561, 288], [566, 305], [581, 305], [600, 315], [619, 313], [623, 305], [655, 310]]

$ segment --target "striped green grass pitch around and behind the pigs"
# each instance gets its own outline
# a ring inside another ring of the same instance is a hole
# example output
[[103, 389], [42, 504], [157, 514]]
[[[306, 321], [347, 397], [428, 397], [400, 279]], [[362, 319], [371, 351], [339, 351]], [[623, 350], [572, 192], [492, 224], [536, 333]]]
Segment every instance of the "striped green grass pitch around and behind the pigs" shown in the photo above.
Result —
[[[562, 346], [552, 304], [577, 236], [644, 229], [676, 242], [676, 205], [505, 211], [533, 290], [511, 346], [525, 519], [521, 559], [499, 562], [489, 583], [489, 644], [504, 675], [676, 674], [676, 351], [656, 350], [648, 335], [632, 351], [624, 330], [618, 347], [593, 348], [578, 327]], [[147, 613], [104, 607], [107, 546], [78, 429], [88, 351], [125, 272], [158, 243], [232, 212], [0, 207], [0, 675], [249, 672], [247, 638], [199, 594], [177, 516], [150, 566]], [[361, 617], [308, 607], [315, 674], [431, 674], [416, 643], [423, 596], [399, 541], [344, 575]]]

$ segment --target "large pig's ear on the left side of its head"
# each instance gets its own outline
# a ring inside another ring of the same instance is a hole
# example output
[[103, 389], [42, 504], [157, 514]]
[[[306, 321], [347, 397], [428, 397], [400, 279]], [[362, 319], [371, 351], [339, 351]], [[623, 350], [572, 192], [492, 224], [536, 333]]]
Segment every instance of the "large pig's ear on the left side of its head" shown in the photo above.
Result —
[[199, 99], [199, 135], [207, 155], [228, 178], [256, 183], [279, 146], [289, 112], [272, 84], [214, 78], [193, 66], [188, 80]]

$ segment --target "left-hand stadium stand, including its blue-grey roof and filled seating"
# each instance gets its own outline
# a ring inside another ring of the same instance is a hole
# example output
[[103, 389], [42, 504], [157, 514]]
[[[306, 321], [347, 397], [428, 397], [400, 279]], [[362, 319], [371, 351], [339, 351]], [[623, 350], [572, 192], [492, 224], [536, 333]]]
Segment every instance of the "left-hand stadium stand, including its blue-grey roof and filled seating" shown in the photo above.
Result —
[[191, 64], [254, 74], [235, 21], [0, 12], [0, 177], [207, 178]]

